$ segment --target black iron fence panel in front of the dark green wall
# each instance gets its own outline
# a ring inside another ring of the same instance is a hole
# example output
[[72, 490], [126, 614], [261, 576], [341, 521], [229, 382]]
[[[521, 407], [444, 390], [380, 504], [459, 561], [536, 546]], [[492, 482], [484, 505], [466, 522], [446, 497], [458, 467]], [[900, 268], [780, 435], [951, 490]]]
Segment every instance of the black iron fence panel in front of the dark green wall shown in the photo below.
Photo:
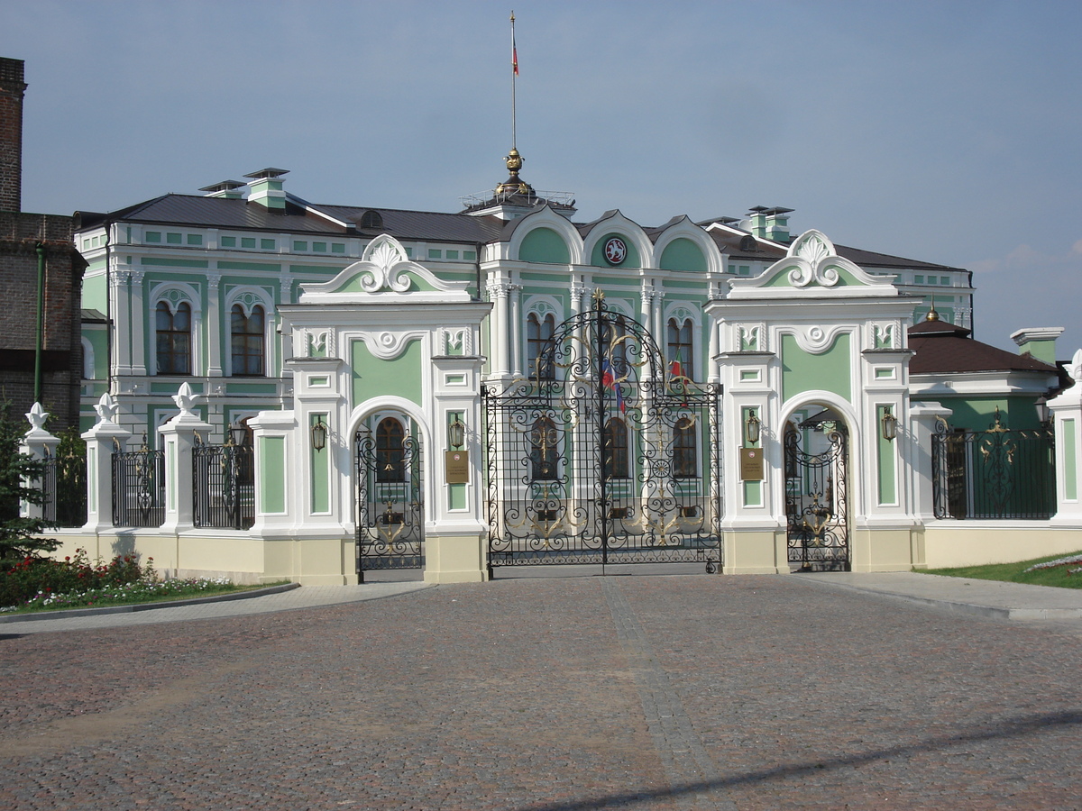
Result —
[[1045, 519], [1056, 511], [1052, 430], [1011, 429], [999, 410], [984, 431], [951, 430], [940, 421], [932, 437], [936, 518]]

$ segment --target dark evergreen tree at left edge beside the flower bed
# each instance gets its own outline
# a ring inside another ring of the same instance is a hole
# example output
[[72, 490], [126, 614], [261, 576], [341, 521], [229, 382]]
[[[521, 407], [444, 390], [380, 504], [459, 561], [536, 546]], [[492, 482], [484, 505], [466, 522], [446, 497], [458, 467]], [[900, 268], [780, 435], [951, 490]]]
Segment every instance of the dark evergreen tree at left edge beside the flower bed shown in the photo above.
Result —
[[0, 403], [0, 569], [60, 546], [58, 541], [38, 536], [52, 523], [18, 514], [19, 502], [36, 505], [45, 502], [40, 488], [28, 486], [41, 480], [45, 463], [19, 453], [18, 443], [25, 434], [25, 422], [11, 416], [11, 403]]

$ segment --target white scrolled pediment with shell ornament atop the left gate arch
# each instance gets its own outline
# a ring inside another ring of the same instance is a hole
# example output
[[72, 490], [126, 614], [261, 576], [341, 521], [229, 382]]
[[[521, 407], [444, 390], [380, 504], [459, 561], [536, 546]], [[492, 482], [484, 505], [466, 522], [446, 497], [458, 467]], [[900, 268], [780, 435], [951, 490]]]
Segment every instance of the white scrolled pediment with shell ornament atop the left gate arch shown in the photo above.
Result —
[[403, 303], [469, 302], [467, 282], [444, 281], [413, 262], [394, 237], [381, 234], [365, 248], [359, 262], [330, 281], [302, 284], [301, 304], [366, 304], [387, 298]]

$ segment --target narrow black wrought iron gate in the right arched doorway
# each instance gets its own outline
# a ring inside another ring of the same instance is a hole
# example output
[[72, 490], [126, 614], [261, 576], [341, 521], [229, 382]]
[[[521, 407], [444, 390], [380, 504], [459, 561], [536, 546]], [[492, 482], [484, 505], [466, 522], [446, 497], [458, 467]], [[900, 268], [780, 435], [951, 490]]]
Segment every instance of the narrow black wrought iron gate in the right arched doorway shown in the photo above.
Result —
[[786, 430], [789, 562], [802, 571], [849, 571], [847, 454], [848, 434], [834, 420], [813, 417]]

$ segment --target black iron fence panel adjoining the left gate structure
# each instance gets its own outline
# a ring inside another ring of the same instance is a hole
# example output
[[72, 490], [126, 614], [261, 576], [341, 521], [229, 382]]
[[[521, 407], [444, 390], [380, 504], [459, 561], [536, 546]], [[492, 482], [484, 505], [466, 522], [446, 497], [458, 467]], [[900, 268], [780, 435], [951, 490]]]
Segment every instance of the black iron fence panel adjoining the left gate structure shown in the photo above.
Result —
[[255, 471], [251, 446], [203, 444], [192, 449], [196, 527], [247, 530], [255, 523]]

